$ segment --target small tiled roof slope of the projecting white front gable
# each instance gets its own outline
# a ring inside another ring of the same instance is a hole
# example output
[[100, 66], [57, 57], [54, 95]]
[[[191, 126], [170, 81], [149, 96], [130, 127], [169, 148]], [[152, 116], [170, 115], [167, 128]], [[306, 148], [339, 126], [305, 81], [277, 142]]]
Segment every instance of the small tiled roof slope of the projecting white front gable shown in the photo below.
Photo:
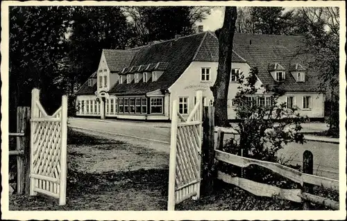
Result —
[[136, 50], [114, 50], [114, 49], [103, 49], [105, 54], [108, 68], [112, 72], [119, 72], [124, 67], [128, 67], [134, 55], [137, 53]]

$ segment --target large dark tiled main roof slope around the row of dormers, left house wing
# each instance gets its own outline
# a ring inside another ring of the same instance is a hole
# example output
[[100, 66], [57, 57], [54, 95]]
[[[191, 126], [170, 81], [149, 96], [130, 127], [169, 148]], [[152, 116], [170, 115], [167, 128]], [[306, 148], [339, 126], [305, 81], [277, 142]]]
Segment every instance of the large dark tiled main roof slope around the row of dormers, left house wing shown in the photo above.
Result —
[[115, 87], [110, 89], [110, 92], [115, 92], [116, 94], [146, 94], [157, 89], [168, 89], [192, 62], [205, 35], [210, 34], [198, 33], [180, 37], [176, 41], [171, 39], [142, 47], [136, 53], [129, 66], [153, 64], [153, 67], [149, 66], [150, 71], [150, 69], [154, 69], [158, 62], [167, 62], [166, 71], [154, 82], [148, 79], [147, 82], [115, 85]]

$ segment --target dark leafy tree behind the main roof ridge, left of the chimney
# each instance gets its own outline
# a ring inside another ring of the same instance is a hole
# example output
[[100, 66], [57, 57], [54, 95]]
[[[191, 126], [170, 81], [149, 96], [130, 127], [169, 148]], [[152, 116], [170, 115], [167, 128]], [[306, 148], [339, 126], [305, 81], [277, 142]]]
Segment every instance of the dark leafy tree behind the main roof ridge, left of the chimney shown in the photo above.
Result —
[[136, 44], [144, 45], [194, 33], [194, 24], [210, 14], [210, 7], [133, 6], [125, 7], [124, 12], [135, 29]]

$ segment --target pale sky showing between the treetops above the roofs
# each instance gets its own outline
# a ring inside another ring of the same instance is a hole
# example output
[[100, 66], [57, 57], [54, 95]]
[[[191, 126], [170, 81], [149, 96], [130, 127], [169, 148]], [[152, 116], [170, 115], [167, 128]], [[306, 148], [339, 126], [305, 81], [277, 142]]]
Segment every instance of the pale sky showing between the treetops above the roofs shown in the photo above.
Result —
[[[285, 10], [283, 12], [287, 12], [288, 10], [294, 9], [292, 7], [284, 7]], [[201, 22], [197, 22], [196, 25], [202, 25], [203, 30], [217, 30], [218, 28], [221, 28], [223, 26], [223, 19], [224, 19], [224, 7], [214, 7], [211, 10], [211, 14], [206, 17], [205, 20]]]

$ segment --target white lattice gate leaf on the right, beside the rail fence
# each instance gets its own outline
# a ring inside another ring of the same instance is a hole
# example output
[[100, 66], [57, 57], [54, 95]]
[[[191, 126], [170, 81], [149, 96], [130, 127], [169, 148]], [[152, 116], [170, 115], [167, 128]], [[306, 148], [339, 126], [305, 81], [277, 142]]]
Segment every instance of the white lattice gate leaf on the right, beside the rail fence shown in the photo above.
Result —
[[[189, 197], [200, 197], [201, 145], [203, 141], [203, 96], [196, 92], [196, 104], [187, 120], [174, 100], [171, 118], [169, 200], [167, 209]], [[183, 107], [181, 107], [183, 108]], [[179, 122], [180, 121], [180, 122]]]

